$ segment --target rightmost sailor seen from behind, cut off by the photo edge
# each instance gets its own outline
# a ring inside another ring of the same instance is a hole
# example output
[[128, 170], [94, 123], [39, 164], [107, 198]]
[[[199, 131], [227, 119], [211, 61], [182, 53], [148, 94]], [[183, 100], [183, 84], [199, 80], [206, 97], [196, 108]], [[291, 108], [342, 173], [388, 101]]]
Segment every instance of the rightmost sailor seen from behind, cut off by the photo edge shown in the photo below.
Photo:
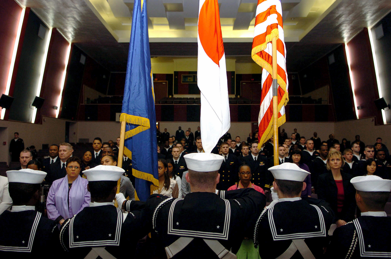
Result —
[[356, 189], [361, 217], [334, 231], [328, 258], [391, 257], [391, 218], [384, 211], [391, 180], [367, 175], [354, 177], [350, 182]]

